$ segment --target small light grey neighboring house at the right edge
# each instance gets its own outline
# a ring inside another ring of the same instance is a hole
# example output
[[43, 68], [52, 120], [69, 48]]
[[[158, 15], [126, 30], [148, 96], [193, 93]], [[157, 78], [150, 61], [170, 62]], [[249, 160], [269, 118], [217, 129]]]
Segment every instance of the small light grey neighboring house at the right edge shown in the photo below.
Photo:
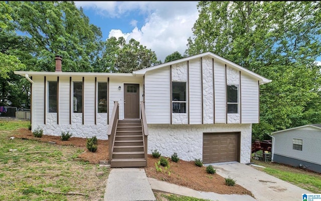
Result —
[[271, 136], [273, 162], [321, 172], [321, 124], [276, 131]]

